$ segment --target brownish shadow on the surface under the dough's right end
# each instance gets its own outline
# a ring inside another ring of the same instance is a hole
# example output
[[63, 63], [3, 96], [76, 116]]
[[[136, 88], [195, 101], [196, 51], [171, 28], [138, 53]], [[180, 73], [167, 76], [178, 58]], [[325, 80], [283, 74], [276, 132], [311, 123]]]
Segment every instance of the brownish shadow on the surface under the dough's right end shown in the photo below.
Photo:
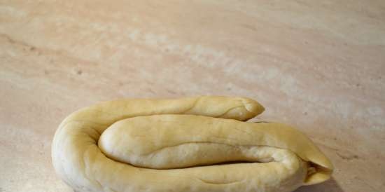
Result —
[[334, 178], [325, 181], [322, 184], [316, 184], [312, 186], [301, 186], [293, 192], [345, 192], [339, 186], [337, 181]]

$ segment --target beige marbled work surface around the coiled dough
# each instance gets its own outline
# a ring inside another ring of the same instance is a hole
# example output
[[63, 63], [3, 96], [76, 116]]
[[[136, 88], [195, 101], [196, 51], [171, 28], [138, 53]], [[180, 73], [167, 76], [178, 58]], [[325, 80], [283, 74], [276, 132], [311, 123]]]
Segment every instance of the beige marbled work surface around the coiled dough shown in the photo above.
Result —
[[0, 191], [71, 191], [50, 144], [121, 97], [240, 95], [335, 165], [296, 192], [385, 191], [385, 1], [0, 1]]

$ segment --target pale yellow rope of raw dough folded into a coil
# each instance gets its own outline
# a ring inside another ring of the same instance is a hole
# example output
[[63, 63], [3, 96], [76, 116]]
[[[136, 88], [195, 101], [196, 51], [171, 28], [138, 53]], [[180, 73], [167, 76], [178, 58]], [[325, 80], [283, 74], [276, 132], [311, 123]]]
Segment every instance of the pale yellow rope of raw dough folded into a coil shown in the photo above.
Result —
[[52, 163], [84, 192], [284, 192], [329, 179], [332, 164], [301, 132], [244, 122], [263, 110], [244, 97], [104, 102], [64, 119]]

